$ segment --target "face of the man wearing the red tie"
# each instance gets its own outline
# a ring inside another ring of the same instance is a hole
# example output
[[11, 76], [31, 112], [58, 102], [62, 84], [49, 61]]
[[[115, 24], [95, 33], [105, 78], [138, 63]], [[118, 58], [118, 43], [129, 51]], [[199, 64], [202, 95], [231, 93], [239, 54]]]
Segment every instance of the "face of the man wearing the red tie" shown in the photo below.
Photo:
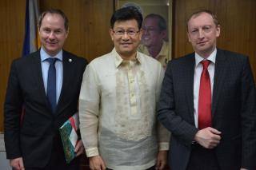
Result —
[[205, 12], [192, 16], [187, 26], [188, 38], [194, 51], [202, 57], [209, 57], [216, 48], [220, 26], [216, 26], [212, 16]]

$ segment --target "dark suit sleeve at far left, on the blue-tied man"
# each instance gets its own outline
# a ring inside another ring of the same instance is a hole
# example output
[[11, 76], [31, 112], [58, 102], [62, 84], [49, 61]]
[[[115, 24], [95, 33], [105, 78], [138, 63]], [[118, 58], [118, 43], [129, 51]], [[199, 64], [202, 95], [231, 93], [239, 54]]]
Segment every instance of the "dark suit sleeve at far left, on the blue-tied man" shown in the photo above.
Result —
[[22, 115], [22, 89], [18, 79], [18, 69], [14, 61], [10, 67], [10, 76], [4, 104], [4, 128], [7, 159], [22, 156], [20, 150], [20, 122]]

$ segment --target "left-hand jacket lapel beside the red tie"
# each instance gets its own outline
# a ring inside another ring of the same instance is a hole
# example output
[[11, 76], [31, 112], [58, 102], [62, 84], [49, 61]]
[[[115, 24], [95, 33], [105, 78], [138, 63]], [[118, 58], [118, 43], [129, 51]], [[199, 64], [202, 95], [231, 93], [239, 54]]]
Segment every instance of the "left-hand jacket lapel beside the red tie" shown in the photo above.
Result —
[[194, 122], [194, 53], [188, 56], [188, 61], [186, 62], [186, 98], [187, 104], [190, 110], [190, 119]]

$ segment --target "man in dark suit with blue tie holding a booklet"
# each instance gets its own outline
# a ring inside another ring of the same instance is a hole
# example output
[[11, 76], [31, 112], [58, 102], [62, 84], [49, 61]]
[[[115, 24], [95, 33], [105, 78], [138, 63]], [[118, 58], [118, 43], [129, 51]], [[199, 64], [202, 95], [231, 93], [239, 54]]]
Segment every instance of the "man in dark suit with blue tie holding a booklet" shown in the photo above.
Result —
[[58, 128], [77, 112], [87, 62], [62, 50], [69, 28], [61, 10], [43, 12], [38, 29], [42, 48], [14, 60], [10, 68], [4, 111], [7, 159], [18, 170], [79, 169], [82, 141], [75, 147], [77, 158], [66, 164]]

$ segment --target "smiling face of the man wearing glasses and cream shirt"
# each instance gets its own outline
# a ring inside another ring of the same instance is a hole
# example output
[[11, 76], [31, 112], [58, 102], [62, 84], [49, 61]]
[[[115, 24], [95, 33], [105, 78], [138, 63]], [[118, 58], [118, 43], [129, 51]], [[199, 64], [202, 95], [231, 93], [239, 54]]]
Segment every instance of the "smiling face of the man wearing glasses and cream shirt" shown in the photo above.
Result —
[[[118, 32], [124, 32], [118, 35]], [[127, 33], [135, 32], [134, 35]], [[110, 36], [114, 42], [114, 48], [122, 58], [134, 57], [142, 38], [142, 31], [138, 29], [138, 22], [135, 19], [117, 21], [113, 29], [110, 29]]]

